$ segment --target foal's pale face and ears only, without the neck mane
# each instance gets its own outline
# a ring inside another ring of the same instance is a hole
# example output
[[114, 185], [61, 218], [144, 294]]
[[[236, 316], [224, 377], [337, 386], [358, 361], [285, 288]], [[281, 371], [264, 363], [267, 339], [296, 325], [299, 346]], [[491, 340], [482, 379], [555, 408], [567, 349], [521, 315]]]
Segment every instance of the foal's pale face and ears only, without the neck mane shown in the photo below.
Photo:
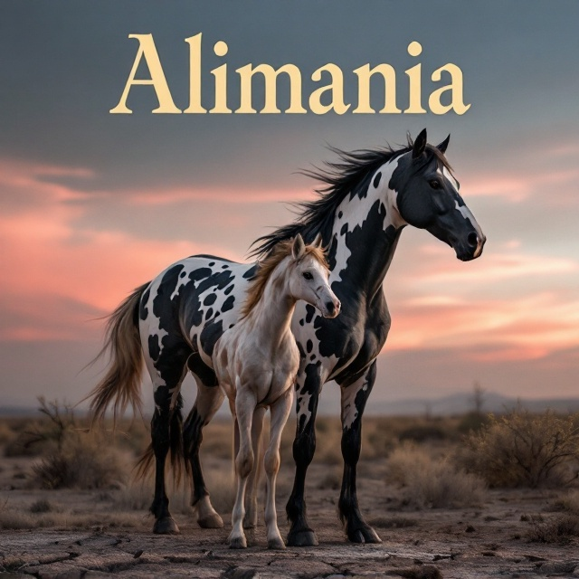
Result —
[[321, 235], [306, 245], [298, 233], [291, 246], [289, 290], [296, 299], [303, 299], [319, 309], [324, 318], [336, 318], [341, 304], [329, 287], [329, 269]]

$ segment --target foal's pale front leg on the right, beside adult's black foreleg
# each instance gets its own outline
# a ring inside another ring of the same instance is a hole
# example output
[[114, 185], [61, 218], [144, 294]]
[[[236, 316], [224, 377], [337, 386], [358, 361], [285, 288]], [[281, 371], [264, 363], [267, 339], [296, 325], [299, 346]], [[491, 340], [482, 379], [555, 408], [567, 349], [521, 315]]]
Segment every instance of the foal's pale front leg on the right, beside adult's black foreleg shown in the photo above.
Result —
[[285, 543], [278, 528], [278, 514], [275, 508], [275, 482], [280, 470], [280, 440], [285, 423], [288, 422], [289, 411], [293, 403], [293, 386], [285, 394], [271, 404], [270, 446], [265, 452], [264, 463], [267, 476], [267, 492], [265, 498], [265, 524], [267, 527], [268, 548], [285, 549]]

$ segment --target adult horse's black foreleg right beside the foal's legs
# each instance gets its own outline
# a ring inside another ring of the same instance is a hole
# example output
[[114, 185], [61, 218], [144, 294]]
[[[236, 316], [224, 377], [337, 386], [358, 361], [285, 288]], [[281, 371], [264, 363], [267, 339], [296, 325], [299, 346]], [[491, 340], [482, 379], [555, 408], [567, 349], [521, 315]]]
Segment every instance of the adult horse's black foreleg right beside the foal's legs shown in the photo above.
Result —
[[305, 371], [298, 375], [296, 385], [298, 424], [296, 438], [293, 441], [293, 460], [296, 463], [296, 474], [293, 489], [286, 505], [286, 513], [291, 524], [288, 533], [289, 546], [318, 545], [316, 534], [308, 527], [304, 489], [308, 466], [316, 451], [315, 423], [321, 384], [319, 363], [318, 365], [306, 365]]

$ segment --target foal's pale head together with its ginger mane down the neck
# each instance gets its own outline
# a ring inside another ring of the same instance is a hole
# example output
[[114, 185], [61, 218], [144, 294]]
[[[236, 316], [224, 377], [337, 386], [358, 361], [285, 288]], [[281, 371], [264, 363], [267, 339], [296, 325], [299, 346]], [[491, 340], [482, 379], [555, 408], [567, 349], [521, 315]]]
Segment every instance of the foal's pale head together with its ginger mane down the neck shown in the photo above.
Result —
[[255, 308], [263, 296], [267, 281], [279, 268], [283, 268], [280, 275], [276, 275], [280, 290], [283, 285], [292, 298], [307, 301], [318, 308], [324, 318], [336, 318], [341, 304], [329, 287], [329, 269], [326, 253], [321, 247], [321, 235], [306, 245], [299, 233], [293, 239], [277, 243], [260, 262], [247, 292], [242, 317]]

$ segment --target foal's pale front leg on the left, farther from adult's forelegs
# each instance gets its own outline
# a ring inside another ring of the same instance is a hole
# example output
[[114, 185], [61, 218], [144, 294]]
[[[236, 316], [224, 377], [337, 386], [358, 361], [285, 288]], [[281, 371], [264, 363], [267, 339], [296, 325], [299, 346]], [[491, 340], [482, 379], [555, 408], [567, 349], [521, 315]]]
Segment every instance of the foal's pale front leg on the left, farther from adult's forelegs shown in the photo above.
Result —
[[245, 515], [245, 487], [247, 478], [253, 468], [252, 450], [252, 419], [257, 401], [253, 393], [245, 392], [237, 384], [235, 398], [235, 413], [239, 429], [239, 451], [235, 457], [235, 478], [237, 479], [237, 494], [232, 513], [232, 532], [229, 535], [229, 546], [232, 549], [245, 548], [247, 539], [243, 533], [243, 516]]

